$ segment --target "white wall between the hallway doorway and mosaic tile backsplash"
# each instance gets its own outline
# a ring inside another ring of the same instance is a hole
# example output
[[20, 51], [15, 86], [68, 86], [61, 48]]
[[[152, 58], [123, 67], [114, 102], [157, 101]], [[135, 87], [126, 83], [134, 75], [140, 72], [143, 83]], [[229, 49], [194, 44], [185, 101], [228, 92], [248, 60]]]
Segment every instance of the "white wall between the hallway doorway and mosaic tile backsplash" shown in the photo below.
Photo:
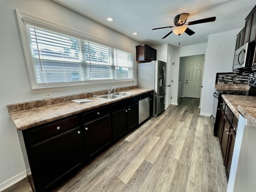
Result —
[[[214, 85], [216, 73], [232, 72], [236, 35], [240, 30], [210, 35], [208, 37], [207, 55], [204, 70], [201, 115], [212, 114]], [[213, 83], [209, 83], [212, 79]]]

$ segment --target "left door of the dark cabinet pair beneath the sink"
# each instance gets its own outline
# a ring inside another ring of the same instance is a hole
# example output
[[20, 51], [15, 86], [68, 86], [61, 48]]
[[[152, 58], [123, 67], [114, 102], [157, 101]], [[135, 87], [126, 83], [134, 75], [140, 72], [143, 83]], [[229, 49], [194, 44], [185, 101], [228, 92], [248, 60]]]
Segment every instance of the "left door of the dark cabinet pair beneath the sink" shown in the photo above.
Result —
[[127, 109], [112, 113], [113, 138], [116, 140], [127, 132]]

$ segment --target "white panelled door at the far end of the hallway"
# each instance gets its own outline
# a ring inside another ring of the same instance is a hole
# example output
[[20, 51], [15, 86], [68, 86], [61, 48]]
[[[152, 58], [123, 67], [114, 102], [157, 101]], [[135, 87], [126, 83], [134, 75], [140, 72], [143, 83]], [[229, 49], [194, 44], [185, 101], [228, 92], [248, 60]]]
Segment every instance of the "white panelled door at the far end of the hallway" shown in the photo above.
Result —
[[200, 98], [204, 61], [186, 62], [185, 97]]

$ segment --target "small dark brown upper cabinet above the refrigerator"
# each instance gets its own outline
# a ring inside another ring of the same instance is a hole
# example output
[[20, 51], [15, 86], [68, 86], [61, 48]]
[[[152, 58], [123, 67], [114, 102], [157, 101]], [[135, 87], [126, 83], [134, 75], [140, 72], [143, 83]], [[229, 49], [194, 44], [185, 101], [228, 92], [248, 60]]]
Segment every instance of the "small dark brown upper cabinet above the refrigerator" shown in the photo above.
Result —
[[156, 49], [146, 44], [136, 46], [136, 61], [150, 62], [155, 60], [156, 60]]

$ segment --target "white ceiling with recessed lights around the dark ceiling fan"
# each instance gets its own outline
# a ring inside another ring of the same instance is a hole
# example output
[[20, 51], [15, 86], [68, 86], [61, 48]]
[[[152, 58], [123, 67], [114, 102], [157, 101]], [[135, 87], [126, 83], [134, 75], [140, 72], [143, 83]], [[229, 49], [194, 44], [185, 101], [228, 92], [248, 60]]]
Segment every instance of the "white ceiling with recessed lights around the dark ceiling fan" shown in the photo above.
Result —
[[[112, 30], [120, 32], [141, 44], [150, 46], [172, 44], [178, 46], [174, 33], [161, 39], [172, 28], [174, 17], [190, 13], [187, 22], [216, 16], [215, 22], [188, 26], [194, 35], [180, 35], [180, 46], [208, 42], [208, 35], [244, 27], [244, 19], [255, 6], [255, 0], [52, 0], [86, 16]], [[114, 21], [108, 22], [108, 16]], [[186, 23], [187, 23], [186, 22]], [[133, 35], [138, 32], [138, 35]]]

